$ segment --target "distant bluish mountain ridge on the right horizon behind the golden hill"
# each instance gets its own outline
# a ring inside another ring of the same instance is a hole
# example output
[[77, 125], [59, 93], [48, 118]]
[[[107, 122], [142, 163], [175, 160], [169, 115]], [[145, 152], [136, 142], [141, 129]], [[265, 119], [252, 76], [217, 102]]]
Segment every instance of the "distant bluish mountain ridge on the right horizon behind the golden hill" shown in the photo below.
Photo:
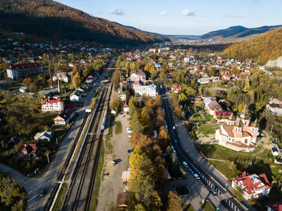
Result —
[[275, 25], [275, 26], [263, 26], [257, 28], [246, 28], [243, 26], [233, 26], [229, 27], [225, 30], [217, 30], [214, 32], [209, 32], [204, 34], [197, 39], [212, 39], [214, 41], [243, 41], [246, 39], [250, 39], [252, 37], [257, 37], [264, 32], [268, 32], [271, 30], [276, 30], [282, 25]]

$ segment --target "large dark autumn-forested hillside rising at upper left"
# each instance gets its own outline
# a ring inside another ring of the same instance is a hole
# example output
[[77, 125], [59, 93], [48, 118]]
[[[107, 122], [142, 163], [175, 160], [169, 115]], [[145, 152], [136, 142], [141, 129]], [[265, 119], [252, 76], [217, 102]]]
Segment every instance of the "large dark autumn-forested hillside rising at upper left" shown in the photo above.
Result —
[[0, 27], [39, 37], [102, 44], [170, 41], [166, 36], [123, 27], [50, 0], [1, 0]]

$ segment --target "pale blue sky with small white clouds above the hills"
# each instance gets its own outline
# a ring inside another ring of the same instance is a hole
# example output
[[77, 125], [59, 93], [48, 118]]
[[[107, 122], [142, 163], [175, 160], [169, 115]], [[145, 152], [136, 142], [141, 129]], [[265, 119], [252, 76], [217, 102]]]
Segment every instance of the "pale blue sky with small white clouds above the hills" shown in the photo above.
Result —
[[57, 0], [122, 25], [167, 35], [282, 25], [282, 0]]

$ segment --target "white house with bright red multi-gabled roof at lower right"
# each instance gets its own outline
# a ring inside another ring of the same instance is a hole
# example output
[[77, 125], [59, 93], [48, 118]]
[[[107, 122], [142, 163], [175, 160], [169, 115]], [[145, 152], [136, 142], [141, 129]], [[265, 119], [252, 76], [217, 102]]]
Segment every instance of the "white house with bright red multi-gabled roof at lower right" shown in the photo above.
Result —
[[262, 196], [267, 196], [270, 191], [269, 180], [265, 174], [247, 174], [243, 172], [240, 177], [232, 180], [232, 187], [238, 187], [243, 190], [243, 197], [246, 200], [257, 199]]

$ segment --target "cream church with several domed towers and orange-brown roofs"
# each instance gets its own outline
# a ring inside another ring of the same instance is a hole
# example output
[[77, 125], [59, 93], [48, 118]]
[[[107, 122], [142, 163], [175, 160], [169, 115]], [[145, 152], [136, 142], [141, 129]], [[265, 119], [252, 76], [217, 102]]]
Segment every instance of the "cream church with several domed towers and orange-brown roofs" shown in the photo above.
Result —
[[237, 118], [231, 114], [226, 124], [221, 124], [216, 130], [216, 141], [219, 145], [235, 151], [252, 152], [257, 144], [259, 123], [257, 120], [250, 122], [249, 110], [244, 106]]

